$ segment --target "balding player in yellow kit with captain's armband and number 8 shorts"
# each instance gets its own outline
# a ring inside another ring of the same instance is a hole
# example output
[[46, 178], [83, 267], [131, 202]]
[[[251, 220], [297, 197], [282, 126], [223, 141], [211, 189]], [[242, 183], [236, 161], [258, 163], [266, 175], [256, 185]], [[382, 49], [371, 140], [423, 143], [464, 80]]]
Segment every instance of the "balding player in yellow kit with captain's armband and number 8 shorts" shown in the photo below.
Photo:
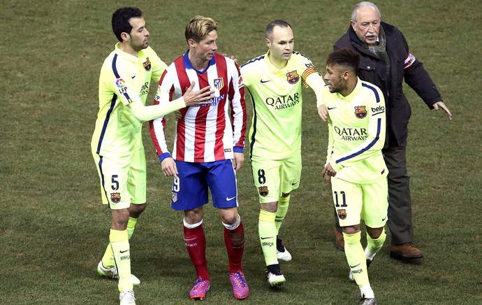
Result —
[[286, 279], [278, 260], [291, 260], [291, 255], [277, 235], [301, 176], [301, 85], [312, 87], [321, 105], [319, 95], [325, 83], [311, 60], [293, 51], [288, 22], [271, 22], [265, 35], [268, 52], [242, 65], [241, 76], [254, 111], [249, 153], [261, 204], [259, 238], [268, 282], [279, 286]]

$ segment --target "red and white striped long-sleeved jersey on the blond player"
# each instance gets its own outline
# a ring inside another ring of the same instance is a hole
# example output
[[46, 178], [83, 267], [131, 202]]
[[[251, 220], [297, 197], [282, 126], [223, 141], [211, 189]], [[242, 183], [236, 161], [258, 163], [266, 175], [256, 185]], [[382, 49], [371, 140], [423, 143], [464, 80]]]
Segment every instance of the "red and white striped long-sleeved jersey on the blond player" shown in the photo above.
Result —
[[[193, 90], [209, 85], [215, 94], [203, 106], [180, 110], [182, 118], [176, 122], [173, 159], [184, 162], [233, 159], [233, 152], [243, 151], [247, 121], [238, 64], [215, 53], [207, 69], [197, 71], [191, 66], [188, 53], [189, 50], [164, 71], [154, 104], [170, 103], [182, 97], [192, 81], [196, 83]], [[149, 122], [149, 126], [159, 159], [170, 157], [166, 144], [166, 118], [157, 118]]]

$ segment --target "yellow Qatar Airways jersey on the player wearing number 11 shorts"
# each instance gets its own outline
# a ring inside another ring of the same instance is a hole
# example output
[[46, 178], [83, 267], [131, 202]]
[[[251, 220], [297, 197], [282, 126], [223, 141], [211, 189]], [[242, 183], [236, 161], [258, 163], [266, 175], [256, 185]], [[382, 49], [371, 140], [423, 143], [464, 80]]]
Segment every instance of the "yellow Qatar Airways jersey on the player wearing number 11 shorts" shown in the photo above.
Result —
[[336, 177], [352, 183], [371, 183], [386, 176], [384, 148], [386, 113], [384, 94], [380, 89], [358, 78], [351, 94], [343, 97], [321, 90], [328, 109], [328, 151]]

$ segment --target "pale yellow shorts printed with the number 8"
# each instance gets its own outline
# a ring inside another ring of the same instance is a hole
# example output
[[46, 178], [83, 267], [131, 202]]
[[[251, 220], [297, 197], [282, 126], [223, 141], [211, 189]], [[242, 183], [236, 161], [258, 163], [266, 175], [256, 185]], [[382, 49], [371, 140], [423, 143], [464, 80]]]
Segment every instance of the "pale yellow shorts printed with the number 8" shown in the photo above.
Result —
[[301, 152], [281, 160], [251, 157], [251, 172], [259, 202], [276, 202], [281, 194], [288, 194], [300, 186]]

